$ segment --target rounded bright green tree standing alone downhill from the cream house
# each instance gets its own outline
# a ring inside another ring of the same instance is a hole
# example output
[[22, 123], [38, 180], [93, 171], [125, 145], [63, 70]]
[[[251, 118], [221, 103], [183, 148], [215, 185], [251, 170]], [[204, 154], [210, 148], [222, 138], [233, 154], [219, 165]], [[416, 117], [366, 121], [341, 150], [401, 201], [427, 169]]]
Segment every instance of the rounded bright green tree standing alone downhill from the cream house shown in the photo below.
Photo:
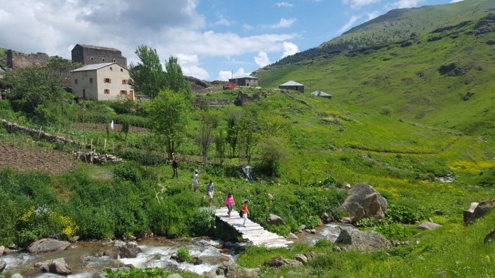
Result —
[[153, 132], [163, 136], [168, 157], [179, 147], [186, 136], [190, 121], [190, 105], [183, 95], [169, 90], [162, 91], [148, 107]]

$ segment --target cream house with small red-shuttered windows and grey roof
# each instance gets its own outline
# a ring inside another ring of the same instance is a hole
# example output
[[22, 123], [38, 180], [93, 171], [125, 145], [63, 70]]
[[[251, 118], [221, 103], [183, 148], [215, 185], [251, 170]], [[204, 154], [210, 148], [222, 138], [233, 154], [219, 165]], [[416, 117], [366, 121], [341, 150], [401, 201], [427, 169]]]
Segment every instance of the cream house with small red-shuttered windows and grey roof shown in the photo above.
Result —
[[72, 93], [83, 99], [114, 100], [120, 94], [135, 99], [127, 68], [120, 64], [87, 65], [71, 71]]

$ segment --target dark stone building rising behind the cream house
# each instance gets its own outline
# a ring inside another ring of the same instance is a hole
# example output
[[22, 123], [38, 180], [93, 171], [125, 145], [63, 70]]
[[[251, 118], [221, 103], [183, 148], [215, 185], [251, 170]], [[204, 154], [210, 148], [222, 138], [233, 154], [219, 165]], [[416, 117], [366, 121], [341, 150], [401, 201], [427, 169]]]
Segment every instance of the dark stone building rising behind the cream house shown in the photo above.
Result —
[[119, 49], [78, 44], [72, 48], [71, 54], [72, 62], [80, 62], [85, 65], [118, 63], [127, 68], [127, 58], [122, 56]]

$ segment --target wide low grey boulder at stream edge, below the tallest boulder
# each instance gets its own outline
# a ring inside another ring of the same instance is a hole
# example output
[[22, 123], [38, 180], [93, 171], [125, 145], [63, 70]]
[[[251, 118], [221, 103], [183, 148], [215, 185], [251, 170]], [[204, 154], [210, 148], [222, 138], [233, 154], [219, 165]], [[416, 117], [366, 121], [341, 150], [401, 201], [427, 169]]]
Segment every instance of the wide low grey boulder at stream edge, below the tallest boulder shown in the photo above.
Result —
[[379, 232], [359, 231], [350, 227], [342, 228], [335, 243], [360, 251], [374, 251], [392, 246], [390, 241]]

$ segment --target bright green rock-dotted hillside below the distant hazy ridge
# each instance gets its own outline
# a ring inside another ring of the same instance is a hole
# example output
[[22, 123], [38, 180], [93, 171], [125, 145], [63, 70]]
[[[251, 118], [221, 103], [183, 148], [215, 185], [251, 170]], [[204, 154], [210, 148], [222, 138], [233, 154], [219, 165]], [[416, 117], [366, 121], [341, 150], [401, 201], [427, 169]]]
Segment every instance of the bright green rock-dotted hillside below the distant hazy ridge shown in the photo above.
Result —
[[263, 87], [295, 80], [306, 85], [307, 93], [321, 90], [336, 102], [493, 136], [494, 19], [489, 15], [408, 40], [267, 67], [255, 74]]

